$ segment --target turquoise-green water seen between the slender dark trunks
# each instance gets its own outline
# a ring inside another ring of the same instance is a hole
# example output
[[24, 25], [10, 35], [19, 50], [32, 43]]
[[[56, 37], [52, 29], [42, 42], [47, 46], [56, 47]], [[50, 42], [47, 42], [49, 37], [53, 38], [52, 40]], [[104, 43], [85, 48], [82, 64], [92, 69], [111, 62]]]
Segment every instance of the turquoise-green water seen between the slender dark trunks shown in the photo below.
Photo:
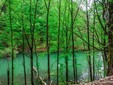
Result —
[[[73, 72], [72, 72], [72, 56], [69, 56], [69, 78], [70, 80], [73, 79]], [[51, 62], [51, 79], [53, 81], [56, 80], [56, 53], [51, 53], [50, 55], [50, 62]], [[75, 57], [77, 60], [77, 75], [78, 80], [81, 81], [84, 78], [88, 78], [88, 58], [86, 52], [75, 52]], [[47, 55], [43, 53], [38, 54], [39, 58], [39, 73], [42, 78], [47, 78]], [[26, 61], [26, 72], [27, 72], [27, 81], [28, 85], [30, 85], [30, 58], [25, 56]], [[99, 71], [101, 71], [103, 64], [102, 64], [102, 56], [100, 52], [95, 53], [95, 61], [96, 61], [96, 72], [99, 76]], [[6, 58], [0, 59], [0, 82], [3, 85], [7, 85], [7, 69], [8, 63], [11, 72], [11, 60], [7, 60]], [[18, 54], [17, 57], [14, 59], [14, 75], [15, 75], [15, 85], [24, 85], [24, 71], [23, 71], [23, 57], [22, 54]], [[36, 67], [36, 56], [34, 54], [34, 66]], [[60, 72], [60, 81], [65, 80], [65, 55], [64, 53], [60, 53], [60, 63], [59, 63], [59, 72]], [[100, 72], [101, 73], [101, 72]], [[11, 73], [10, 73], [11, 74]]]

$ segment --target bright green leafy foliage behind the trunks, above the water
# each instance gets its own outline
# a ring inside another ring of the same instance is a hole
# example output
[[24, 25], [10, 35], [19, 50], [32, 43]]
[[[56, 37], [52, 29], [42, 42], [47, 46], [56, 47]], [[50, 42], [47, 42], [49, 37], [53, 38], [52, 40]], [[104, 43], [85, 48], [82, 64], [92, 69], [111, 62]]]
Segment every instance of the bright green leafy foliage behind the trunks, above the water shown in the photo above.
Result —
[[[2, 7], [5, 0], [0, 1], [0, 7]], [[32, 22], [34, 22], [34, 11], [35, 11], [35, 4], [36, 0], [32, 1]], [[58, 1], [52, 0], [51, 1], [51, 8], [50, 8], [50, 16], [49, 16], [49, 44], [50, 44], [50, 52], [57, 51], [57, 36], [58, 36]], [[78, 4], [76, 2], [73, 2], [74, 4], [74, 17], [78, 9]], [[22, 7], [23, 6], [23, 7]], [[95, 15], [96, 23], [95, 23], [95, 29], [93, 26], [93, 7], [92, 5], [91, 9], [89, 10], [89, 23], [90, 23], [90, 42], [92, 42], [92, 35], [93, 30], [94, 37], [95, 37], [95, 47], [96, 48], [103, 48], [103, 45], [100, 45], [100, 42], [104, 38], [107, 37], [104, 36], [104, 32], [101, 28], [101, 25], [99, 24], [98, 17]], [[29, 1], [26, 0], [24, 2], [20, 0], [13, 0], [11, 2], [11, 16], [12, 16], [12, 27], [14, 32], [14, 47], [18, 49], [18, 47], [22, 47], [22, 16], [24, 21], [24, 28], [25, 28], [25, 35], [28, 37], [29, 42], [31, 42], [31, 34], [30, 34], [30, 14], [29, 14]], [[105, 21], [102, 19], [102, 6], [97, 4], [98, 7], [98, 13], [100, 16], [100, 19], [105, 25]], [[23, 12], [22, 12], [23, 11]], [[70, 15], [70, 2], [67, 2], [67, 0], [62, 0], [61, 4], [61, 29], [60, 29], [60, 49], [65, 50], [66, 46], [66, 32], [68, 31], [68, 46], [71, 48], [72, 43], [71, 41], [71, 15]], [[4, 42], [7, 44], [8, 47], [10, 47], [10, 23], [9, 23], [9, 9], [8, 9], [8, 1], [6, 3], [6, 11], [3, 12], [3, 14], [0, 17], [0, 43], [3, 44]], [[36, 14], [36, 23], [35, 23], [35, 31], [34, 31], [34, 38], [35, 38], [35, 44], [36, 48], [46, 48], [46, 7], [43, 0], [38, 1], [38, 9]], [[67, 30], [66, 30], [67, 29]], [[99, 36], [101, 36], [99, 38]], [[81, 39], [82, 38], [82, 39]], [[84, 48], [87, 46], [87, 30], [86, 30], [86, 12], [83, 11], [81, 8], [79, 9], [78, 15], [76, 17], [76, 20], [74, 22], [74, 45], [76, 50], [86, 50]], [[86, 41], [86, 42], [85, 42]], [[3, 48], [5, 48], [5, 45], [1, 45]], [[25, 48], [28, 48], [28, 43], [25, 38]], [[22, 49], [22, 48], [21, 48]]]

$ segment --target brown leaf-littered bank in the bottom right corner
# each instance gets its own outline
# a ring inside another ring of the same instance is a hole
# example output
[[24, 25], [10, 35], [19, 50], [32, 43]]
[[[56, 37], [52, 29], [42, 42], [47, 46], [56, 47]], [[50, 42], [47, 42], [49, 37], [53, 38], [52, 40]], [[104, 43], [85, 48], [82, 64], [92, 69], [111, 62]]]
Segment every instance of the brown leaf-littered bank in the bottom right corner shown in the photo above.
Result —
[[105, 78], [101, 78], [100, 80], [96, 80], [94, 82], [81, 83], [78, 85], [113, 85], [113, 75]]

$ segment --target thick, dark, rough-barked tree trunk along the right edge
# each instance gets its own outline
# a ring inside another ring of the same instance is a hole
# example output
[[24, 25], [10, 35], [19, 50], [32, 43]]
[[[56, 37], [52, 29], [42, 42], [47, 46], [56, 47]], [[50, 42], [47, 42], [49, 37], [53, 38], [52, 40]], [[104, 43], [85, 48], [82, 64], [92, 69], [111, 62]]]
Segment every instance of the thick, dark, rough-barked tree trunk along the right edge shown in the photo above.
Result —
[[113, 1], [109, 1], [108, 23], [108, 75], [113, 75]]

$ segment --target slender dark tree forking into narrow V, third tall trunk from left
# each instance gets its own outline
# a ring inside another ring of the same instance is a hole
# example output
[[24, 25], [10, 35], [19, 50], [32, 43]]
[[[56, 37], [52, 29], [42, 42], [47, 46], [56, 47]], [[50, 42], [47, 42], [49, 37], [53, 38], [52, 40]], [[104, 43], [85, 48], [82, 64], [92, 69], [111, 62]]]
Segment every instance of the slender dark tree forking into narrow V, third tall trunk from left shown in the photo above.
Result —
[[30, 17], [30, 34], [31, 34], [31, 45], [30, 45], [30, 57], [31, 57], [31, 84], [34, 85], [34, 76], [33, 76], [33, 53], [34, 53], [34, 31], [36, 24], [36, 15], [37, 15], [37, 4], [38, 0], [36, 0], [35, 10], [34, 10], [34, 20], [32, 22], [32, 0], [30, 0], [30, 8], [29, 8], [29, 17]]

